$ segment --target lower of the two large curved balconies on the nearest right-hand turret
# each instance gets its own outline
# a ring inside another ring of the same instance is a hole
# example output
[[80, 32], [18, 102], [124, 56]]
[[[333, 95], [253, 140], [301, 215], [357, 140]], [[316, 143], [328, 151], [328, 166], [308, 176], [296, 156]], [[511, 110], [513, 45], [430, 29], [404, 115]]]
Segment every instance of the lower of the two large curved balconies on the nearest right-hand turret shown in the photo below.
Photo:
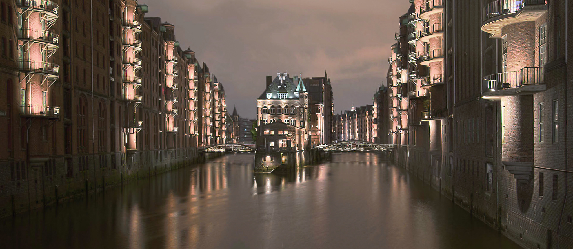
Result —
[[547, 88], [543, 68], [523, 68], [513, 72], [490, 74], [483, 78], [482, 85], [482, 98], [490, 100], [543, 92]]

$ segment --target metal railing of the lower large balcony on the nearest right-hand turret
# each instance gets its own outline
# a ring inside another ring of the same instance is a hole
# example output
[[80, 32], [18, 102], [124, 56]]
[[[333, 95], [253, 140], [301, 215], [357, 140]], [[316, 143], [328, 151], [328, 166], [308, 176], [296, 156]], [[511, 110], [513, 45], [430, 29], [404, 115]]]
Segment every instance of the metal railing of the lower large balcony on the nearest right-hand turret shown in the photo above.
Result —
[[517, 88], [523, 85], [545, 84], [543, 68], [523, 68], [521, 70], [490, 74], [483, 78], [485, 90], [501, 90]]

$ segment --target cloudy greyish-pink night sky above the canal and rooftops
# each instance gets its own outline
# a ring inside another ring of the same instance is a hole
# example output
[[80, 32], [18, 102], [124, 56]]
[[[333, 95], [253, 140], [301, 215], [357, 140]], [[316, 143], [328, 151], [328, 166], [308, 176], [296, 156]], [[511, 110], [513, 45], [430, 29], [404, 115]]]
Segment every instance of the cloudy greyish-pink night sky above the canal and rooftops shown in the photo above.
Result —
[[[256, 117], [265, 76], [331, 78], [336, 113], [372, 104], [407, 0], [147, 0], [225, 86], [227, 108]], [[384, 82], [385, 83], [385, 82]]]

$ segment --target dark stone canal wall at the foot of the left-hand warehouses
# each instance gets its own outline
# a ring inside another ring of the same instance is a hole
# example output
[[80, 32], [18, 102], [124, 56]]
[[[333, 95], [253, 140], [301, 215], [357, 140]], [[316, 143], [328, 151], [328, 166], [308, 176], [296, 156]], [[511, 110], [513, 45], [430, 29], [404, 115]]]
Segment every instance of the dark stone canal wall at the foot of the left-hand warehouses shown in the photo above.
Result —
[[[19, 181], [0, 188], [0, 218], [29, 211], [44, 205], [81, 198], [106, 188], [126, 184], [201, 163], [224, 155], [199, 153], [197, 149], [167, 149], [85, 156], [64, 156], [50, 159], [42, 167], [28, 167], [19, 172]], [[79, 171], [66, 172], [70, 164]], [[80, 167], [77, 167], [80, 165]], [[11, 183], [10, 165], [0, 165], [3, 183]], [[13, 167], [13, 165], [12, 165]]]

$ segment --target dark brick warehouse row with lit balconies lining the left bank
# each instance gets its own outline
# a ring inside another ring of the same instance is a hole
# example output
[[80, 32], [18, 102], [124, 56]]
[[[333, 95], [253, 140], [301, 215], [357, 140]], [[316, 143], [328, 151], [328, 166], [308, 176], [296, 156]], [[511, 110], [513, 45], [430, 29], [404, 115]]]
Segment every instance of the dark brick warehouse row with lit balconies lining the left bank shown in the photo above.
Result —
[[225, 143], [225, 92], [135, 0], [0, 1], [0, 215]]

